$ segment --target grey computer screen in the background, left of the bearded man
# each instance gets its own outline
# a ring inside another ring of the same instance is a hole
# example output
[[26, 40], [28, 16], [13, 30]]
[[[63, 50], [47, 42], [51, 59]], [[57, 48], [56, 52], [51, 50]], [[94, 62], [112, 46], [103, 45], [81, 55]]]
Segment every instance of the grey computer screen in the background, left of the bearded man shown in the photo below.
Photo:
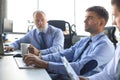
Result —
[[4, 26], [3, 26], [4, 33], [12, 33], [13, 32], [13, 21], [9, 19], [4, 19]]

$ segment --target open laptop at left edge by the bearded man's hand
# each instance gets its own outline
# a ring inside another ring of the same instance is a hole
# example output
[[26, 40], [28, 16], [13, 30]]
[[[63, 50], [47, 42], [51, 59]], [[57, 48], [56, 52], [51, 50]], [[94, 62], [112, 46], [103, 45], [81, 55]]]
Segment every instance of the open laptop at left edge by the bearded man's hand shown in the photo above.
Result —
[[20, 50], [9, 51], [9, 52], [4, 51], [2, 34], [0, 34], [0, 55], [14, 55], [14, 54], [21, 54], [21, 51]]

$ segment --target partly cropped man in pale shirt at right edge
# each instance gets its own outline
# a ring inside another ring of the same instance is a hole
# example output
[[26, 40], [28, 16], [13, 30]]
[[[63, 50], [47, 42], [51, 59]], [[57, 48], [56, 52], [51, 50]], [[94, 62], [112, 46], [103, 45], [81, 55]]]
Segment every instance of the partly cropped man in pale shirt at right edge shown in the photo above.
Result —
[[[113, 24], [120, 32], [120, 0], [111, 0]], [[120, 80], [120, 42], [115, 50], [114, 58], [107, 64], [104, 70], [88, 78], [80, 77], [80, 80]]]

